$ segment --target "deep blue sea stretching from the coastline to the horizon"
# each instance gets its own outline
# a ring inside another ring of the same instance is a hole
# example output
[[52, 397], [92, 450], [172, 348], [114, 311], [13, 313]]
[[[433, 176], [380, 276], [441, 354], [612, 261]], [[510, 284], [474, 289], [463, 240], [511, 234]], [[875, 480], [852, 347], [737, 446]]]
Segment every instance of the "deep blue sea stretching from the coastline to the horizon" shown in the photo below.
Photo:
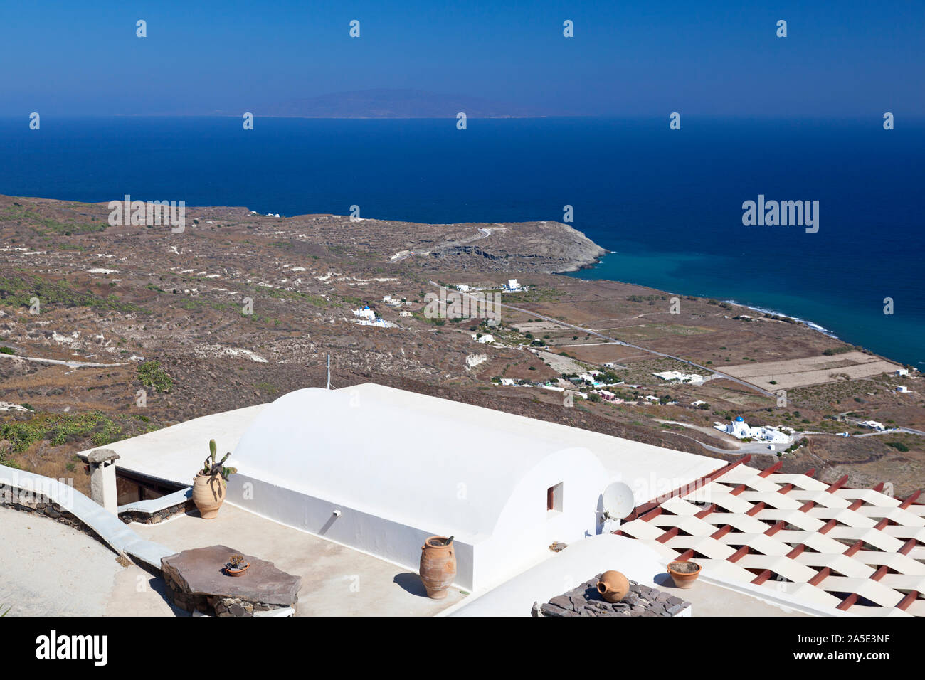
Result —
[[[0, 119], [0, 193], [420, 222], [561, 220], [613, 251], [576, 274], [759, 306], [925, 362], [925, 121]], [[819, 232], [742, 204], [820, 202]], [[883, 314], [884, 298], [894, 315]]]

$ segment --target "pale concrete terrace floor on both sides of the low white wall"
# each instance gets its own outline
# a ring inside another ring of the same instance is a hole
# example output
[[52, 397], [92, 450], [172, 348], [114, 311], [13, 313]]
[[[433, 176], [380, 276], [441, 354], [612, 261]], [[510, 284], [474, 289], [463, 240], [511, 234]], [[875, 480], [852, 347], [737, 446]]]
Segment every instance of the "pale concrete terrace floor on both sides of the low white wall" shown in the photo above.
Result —
[[[407, 569], [228, 504], [214, 520], [191, 513], [130, 526], [178, 552], [222, 544], [301, 575], [298, 616], [430, 616], [464, 597], [451, 588], [430, 600]], [[0, 604], [10, 616], [187, 615], [165, 599], [163, 580], [46, 517], [0, 508], [0, 544]]]

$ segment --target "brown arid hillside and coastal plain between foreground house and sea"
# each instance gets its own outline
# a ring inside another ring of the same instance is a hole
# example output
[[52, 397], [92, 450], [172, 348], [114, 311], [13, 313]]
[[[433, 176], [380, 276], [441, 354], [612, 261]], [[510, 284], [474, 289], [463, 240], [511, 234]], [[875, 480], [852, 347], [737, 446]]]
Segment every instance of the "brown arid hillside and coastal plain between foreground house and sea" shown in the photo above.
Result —
[[[75, 451], [323, 387], [330, 354], [335, 388], [373, 381], [724, 460], [779, 460], [712, 427], [742, 415], [796, 431], [784, 472], [890, 482], [899, 496], [925, 486], [916, 371], [897, 377], [901, 366], [793, 319], [557, 274], [605, 252], [561, 223], [197, 207], [172, 233], [108, 216], [106, 204], [0, 196], [0, 462], [85, 490]], [[503, 305], [497, 325], [425, 314], [439, 285], [509, 278], [527, 290], [487, 291]], [[356, 323], [367, 304], [388, 328]], [[575, 394], [569, 406], [540, 386], [587, 395], [564, 380], [590, 370], [622, 401]], [[866, 420], [905, 429], [873, 433]], [[413, 436], [413, 414], [406, 427]]]

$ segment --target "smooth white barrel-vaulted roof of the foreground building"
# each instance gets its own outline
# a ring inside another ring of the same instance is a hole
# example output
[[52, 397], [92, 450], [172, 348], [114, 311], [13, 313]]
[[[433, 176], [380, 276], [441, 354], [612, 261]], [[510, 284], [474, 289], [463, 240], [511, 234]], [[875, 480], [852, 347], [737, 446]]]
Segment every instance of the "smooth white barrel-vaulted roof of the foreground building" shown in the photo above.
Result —
[[[435, 533], [451, 528], [476, 537], [492, 533], [537, 465], [550, 457], [577, 464], [588, 451], [611, 478], [613, 467], [626, 465], [646, 476], [653, 463], [672, 471], [693, 464], [697, 476], [720, 466], [702, 456], [372, 383], [280, 397], [246, 430], [232, 463], [242, 475], [315, 498]], [[680, 458], [645, 455], [653, 451]], [[648, 463], [639, 467], [637, 458]], [[600, 480], [601, 490], [609, 481]]]

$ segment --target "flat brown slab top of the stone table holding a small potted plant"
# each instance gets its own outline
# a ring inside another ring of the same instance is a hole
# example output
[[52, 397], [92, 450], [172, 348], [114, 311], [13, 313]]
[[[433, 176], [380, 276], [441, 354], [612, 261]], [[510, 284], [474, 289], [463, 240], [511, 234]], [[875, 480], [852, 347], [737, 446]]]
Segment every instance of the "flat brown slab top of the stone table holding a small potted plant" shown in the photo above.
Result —
[[161, 558], [161, 568], [169, 580], [189, 595], [263, 602], [279, 607], [291, 607], [299, 597], [302, 576], [294, 576], [244, 553], [250, 563], [240, 576], [224, 573], [228, 558], [240, 550], [228, 546], [211, 546], [183, 550]]

